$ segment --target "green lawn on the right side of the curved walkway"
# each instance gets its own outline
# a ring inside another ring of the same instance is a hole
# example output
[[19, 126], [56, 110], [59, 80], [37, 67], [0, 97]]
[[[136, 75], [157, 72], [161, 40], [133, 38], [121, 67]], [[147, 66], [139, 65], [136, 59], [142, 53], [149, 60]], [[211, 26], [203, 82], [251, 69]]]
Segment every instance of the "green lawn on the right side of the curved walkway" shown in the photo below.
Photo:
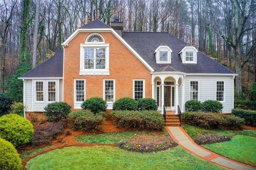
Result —
[[232, 139], [227, 142], [202, 145], [204, 148], [217, 154], [256, 166], [256, 131], [255, 130], [208, 130], [190, 125], [182, 125], [188, 135], [194, 139], [203, 133], [218, 133], [229, 136]]

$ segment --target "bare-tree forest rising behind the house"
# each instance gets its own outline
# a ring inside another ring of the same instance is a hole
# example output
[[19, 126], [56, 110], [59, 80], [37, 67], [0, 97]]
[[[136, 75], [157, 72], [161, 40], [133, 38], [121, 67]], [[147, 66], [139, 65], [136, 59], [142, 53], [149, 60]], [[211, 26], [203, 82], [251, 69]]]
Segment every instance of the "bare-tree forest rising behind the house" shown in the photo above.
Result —
[[256, 0], [0, 0], [0, 92], [22, 101], [20, 77], [84, 24], [170, 32], [234, 73], [236, 97], [256, 81]]

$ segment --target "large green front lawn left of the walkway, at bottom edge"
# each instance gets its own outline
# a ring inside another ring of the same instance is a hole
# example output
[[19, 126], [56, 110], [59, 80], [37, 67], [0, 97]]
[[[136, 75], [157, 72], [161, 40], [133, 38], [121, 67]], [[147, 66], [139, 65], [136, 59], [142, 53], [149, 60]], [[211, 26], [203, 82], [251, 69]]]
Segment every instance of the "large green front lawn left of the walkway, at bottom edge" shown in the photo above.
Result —
[[80, 169], [224, 169], [198, 158], [180, 146], [153, 153], [138, 153], [113, 146], [66, 147], [52, 150], [31, 159], [28, 170]]

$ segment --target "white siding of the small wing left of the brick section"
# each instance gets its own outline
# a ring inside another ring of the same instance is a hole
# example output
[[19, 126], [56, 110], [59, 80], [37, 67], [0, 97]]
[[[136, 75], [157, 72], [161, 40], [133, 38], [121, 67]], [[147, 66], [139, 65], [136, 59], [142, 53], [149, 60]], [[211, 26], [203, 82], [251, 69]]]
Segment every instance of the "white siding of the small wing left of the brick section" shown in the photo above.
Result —
[[[32, 111], [32, 112], [43, 112], [44, 107], [48, 105], [48, 82], [49, 81], [55, 81], [56, 82], [56, 101], [63, 101], [63, 81], [62, 79], [26, 79], [26, 90], [25, 90], [25, 105], [26, 105], [26, 111]], [[44, 101], [36, 101], [36, 81], [43, 81], [44, 82]]]

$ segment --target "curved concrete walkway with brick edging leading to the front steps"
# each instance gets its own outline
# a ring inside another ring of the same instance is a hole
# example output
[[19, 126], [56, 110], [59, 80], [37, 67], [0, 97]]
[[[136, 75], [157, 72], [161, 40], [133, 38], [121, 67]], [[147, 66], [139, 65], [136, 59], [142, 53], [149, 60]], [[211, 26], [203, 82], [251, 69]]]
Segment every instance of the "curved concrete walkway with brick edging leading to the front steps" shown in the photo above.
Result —
[[166, 127], [172, 139], [188, 152], [219, 166], [234, 170], [255, 170], [256, 167], [220, 156], [196, 144], [182, 127]]

